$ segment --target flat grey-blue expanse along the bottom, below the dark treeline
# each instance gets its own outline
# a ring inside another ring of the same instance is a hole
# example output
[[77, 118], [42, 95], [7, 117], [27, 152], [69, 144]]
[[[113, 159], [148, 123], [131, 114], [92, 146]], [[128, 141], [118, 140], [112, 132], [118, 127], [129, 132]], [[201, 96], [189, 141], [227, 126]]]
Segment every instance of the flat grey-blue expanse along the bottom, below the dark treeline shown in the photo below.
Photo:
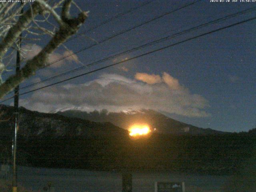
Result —
[[[230, 176], [178, 173], [132, 172], [133, 192], [154, 192], [154, 182], [185, 182], [205, 190], [219, 190]], [[50, 169], [18, 166], [18, 184], [27, 189], [43, 191], [52, 182], [55, 192], [121, 192], [122, 174], [117, 172], [75, 169]]]

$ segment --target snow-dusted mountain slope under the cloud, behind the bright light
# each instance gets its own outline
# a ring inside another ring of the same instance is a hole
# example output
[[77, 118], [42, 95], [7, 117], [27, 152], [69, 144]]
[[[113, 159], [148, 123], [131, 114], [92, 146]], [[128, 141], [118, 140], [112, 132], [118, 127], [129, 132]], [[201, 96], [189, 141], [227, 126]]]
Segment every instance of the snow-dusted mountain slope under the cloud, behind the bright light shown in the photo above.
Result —
[[62, 110], [57, 114], [67, 117], [82, 118], [95, 122], [111, 122], [112, 124], [129, 129], [133, 124], [148, 124], [152, 130], [161, 134], [224, 134], [226, 132], [199, 128], [179, 122], [154, 110], [139, 110], [126, 112], [108, 112], [107, 110], [83, 112], [80, 110]]

